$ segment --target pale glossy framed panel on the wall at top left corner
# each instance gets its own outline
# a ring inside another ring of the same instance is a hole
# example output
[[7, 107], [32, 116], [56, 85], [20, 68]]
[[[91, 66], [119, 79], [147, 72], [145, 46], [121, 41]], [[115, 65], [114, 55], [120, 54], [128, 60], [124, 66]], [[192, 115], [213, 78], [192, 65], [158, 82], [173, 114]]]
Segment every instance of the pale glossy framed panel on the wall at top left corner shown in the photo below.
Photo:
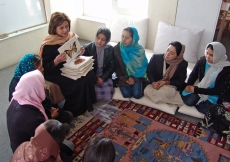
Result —
[[43, 0], [3, 0], [0, 8], [0, 35], [47, 22]]

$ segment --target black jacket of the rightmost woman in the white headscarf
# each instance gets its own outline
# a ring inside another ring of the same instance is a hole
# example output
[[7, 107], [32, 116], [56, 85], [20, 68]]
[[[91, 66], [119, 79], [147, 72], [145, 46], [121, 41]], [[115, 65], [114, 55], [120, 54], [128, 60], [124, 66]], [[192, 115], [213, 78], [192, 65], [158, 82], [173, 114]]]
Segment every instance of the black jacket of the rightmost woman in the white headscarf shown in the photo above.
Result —
[[[197, 79], [199, 82], [204, 78], [205, 73], [205, 56], [201, 57], [200, 60], [196, 62], [191, 74], [189, 75], [187, 85], [193, 85]], [[216, 84], [214, 88], [194, 88], [195, 94], [205, 94], [205, 95], [220, 95], [224, 92], [224, 83], [227, 76], [230, 74], [230, 66], [226, 66], [223, 70], [217, 75]], [[230, 84], [229, 84], [230, 85]]]

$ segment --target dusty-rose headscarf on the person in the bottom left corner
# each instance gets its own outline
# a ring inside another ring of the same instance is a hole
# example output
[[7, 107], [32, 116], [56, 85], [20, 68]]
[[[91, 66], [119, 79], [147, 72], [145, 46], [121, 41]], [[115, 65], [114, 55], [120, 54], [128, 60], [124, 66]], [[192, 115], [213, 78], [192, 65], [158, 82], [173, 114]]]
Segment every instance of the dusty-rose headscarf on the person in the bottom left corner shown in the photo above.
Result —
[[62, 162], [59, 154], [59, 145], [47, 132], [44, 124], [42, 123], [36, 128], [34, 137], [31, 137], [30, 141], [22, 143], [16, 149], [11, 161]]

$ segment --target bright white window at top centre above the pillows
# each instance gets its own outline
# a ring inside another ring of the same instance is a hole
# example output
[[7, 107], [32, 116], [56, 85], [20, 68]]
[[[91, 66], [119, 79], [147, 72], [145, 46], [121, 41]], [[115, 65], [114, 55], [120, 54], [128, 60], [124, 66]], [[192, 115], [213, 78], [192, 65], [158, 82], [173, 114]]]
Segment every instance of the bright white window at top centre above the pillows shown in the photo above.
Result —
[[84, 16], [111, 19], [113, 15], [148, 15], [149, 0], [84, 0]]

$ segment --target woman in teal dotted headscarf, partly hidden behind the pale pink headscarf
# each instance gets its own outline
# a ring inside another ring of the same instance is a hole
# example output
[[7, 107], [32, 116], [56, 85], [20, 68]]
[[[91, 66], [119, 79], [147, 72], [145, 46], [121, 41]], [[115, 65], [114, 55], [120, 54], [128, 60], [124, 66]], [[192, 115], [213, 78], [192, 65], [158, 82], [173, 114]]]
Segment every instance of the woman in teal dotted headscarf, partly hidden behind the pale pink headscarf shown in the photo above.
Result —
[[[20, 78], [24, 74], [35, 69], [38, 69], [41, 73], [43, 73], [44, 69], [42, 67], [41, 56], [32, 53], [25, 54], [14, 71], [14, 76], [9, 86], [9, 101], [12, 99], [12, 93], [15, 91], [15, 87], [17, 86]], [[42, 102], [42, 105], [45, 108], [46, 115], [49, 119], [57, 119], [62, 123], [70, 123], [72, 121], [71, 112], [65, 112], [62, 109], [52, 107], [49, 95], [46, 95], [46, 99]]]

